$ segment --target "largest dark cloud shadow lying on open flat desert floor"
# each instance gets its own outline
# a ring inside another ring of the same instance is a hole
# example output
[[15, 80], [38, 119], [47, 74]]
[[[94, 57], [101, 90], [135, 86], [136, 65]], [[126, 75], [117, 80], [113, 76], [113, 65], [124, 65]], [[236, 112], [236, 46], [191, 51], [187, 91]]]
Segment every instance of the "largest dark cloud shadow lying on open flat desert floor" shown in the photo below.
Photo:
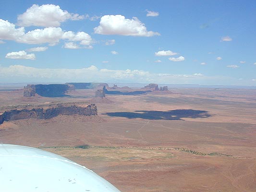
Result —
[[169, 111], [146, 111], [137, 110], [135, 112], [109, 112], [102, 113], [110, 117], [125, 117], [129, 119], [141, 118], [145, 120], [182, 120], [181, 118], [208, 118], [212, 115], [208, 111], [194, 109], [175, 109]]

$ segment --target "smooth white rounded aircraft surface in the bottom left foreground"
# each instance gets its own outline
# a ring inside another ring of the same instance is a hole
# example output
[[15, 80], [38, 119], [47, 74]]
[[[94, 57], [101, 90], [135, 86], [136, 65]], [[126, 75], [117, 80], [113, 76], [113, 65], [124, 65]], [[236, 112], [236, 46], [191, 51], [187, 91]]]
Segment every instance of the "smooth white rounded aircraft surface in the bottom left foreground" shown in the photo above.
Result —
[[0, 144], [0, 192], [120, 192], [92, 170], [37, 148]]

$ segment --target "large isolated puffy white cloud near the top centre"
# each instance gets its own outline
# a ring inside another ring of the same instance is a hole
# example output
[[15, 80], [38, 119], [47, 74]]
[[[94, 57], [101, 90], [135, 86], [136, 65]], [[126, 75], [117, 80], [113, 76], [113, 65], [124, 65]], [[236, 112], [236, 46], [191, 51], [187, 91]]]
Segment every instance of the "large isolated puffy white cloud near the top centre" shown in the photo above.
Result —
[[94, 33], [102, 35], [121, 36], [159, 36], [158, 32], [147, 31], [145, 24], [138, 18], [125, 19], [122, 15], [104, 15], [100, 18]]

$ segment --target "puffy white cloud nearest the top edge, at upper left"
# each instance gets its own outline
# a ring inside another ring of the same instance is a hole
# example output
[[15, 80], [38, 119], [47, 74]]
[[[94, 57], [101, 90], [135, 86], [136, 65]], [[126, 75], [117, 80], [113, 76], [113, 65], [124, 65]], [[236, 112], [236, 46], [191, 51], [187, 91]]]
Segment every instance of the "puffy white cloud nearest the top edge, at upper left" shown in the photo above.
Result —
[[63, 11], [58, 5], [46, 4], [38, 6], [34, 4], [26, 12], [18, 15], [18, 25], [59, 27], [66, 20], [82, 20], [84, 18], [83, 15]]

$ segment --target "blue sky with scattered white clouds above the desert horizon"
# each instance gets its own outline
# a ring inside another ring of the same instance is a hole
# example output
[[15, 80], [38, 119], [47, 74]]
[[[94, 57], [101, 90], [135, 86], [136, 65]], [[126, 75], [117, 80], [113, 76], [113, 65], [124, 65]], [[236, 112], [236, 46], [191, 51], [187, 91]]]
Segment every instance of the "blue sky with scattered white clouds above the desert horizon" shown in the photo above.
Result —
[[0, 83], [256, 85], [255, 0], [1, 0]]

